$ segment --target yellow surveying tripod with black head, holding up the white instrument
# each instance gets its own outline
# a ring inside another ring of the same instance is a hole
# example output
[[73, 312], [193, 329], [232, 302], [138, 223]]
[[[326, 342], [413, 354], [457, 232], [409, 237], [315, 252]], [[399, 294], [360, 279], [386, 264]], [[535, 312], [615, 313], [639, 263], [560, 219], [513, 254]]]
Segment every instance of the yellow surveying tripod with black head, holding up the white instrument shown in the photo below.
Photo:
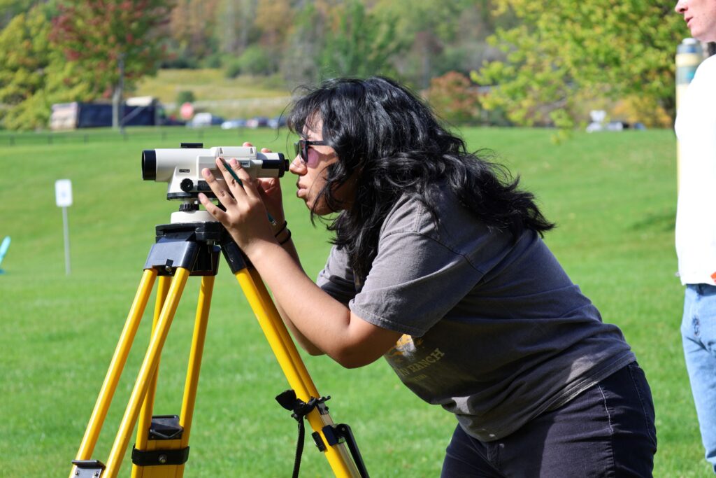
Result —
[[[220, 251], [246, 295], [292, 388], [276, 399], [285, 408], [293, 409], [292, 416], [299, 421], [299, 449], [302, 446], [303, 419], [306, 416], [314, 430], [312, 435], [316, 446], [324, 452], [334, 474], [337, 477], [367, 477], [349, 426], [333, 423], [325, 405], [327, 398], [321, 397], [316, 391], [261, 277], [245, 259], [226, 229], [213, 221], [164, 224], [157, 226], [156, 236], [77, 457], [72, 461], [70, 478], [116, 477], [137, 421], [139, 426], [132, 450], [132, 477], [183, 476], [189, 454], [189, 433]], [[160, 354], [185, 284], [191, 275], [201, 276], [201, 287], [181, 412], [178, 416], [152, 416]], [[160, 279], [150, 343], [109, 458], [104, 464], [90, 457], [158, 276]], [[345, 446], [348, 446], [348, 450]], [[297, 457], [294, 476], [298, 474], [299, 462], [300, 457]]]

